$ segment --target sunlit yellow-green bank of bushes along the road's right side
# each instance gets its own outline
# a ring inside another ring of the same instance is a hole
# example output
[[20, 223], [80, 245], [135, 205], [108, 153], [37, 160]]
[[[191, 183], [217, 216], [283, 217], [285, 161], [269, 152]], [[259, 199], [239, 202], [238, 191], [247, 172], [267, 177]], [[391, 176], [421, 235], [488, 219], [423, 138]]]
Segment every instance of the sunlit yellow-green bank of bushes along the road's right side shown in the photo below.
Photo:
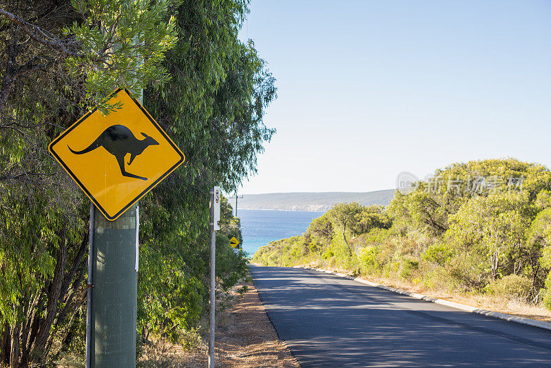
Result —
[[256, 258], [360, 267], [448, 292], [541, 296], [551, 309], [551, 170], [537, 163], [453, 163], [412, 193], [396, 192], [386, 208], [335, 205], [303, 238], [300, 249], [285, 248], [293, 241], [284, 239]]

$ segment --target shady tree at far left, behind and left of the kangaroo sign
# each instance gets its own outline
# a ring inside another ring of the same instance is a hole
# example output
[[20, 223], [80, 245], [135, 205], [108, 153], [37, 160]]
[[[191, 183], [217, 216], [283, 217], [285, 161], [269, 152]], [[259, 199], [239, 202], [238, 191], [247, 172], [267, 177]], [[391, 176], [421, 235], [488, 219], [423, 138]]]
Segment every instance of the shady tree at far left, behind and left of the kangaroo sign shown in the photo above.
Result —
[[[25, 367], [79, 327], [87, 201], [48, 143], [118, 86], [164, 83], [169, 1], [10, 1], [0, 6], [0, 362]], [[141, 63], [136, 60], [141, 59]]]

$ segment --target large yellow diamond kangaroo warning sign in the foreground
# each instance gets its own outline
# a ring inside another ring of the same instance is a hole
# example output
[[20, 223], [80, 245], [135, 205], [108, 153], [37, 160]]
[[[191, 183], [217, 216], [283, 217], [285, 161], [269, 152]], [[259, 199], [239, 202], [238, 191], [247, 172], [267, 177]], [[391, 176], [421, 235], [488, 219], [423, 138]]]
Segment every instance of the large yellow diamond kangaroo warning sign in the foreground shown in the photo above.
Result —
[[50, 152], [109, 220], [181, 165], [185, 156], [126, 90], [110, 103], [123, 103], [104, 116], [94, 109], [50, 143]]

